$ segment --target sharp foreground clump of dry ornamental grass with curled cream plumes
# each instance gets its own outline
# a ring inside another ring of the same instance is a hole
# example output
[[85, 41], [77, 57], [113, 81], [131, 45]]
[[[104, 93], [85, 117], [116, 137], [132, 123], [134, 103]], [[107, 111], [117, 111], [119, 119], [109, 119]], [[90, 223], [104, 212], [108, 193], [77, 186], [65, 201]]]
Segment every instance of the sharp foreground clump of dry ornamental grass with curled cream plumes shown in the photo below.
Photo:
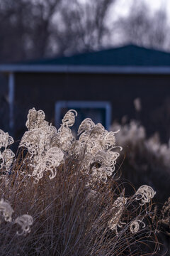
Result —
[[88, 118], [76, 139], [76, 116], [69, 110], [57, 130], [42, 110], [29, 111], [16, 157], [1, 164], [0, 255], [154, 255], [156, 192], [143, 185], [127, 194], [117, 132]]

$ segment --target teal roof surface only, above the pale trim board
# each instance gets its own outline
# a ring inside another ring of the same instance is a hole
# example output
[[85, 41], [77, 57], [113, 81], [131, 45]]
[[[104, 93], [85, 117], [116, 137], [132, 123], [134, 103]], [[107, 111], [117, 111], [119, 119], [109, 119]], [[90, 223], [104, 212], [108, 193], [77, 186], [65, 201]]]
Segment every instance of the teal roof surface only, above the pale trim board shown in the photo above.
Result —
[[19, 65], [74, 65], [74, 66], [170, 66], [170, 53], [139, 46], [123, 46], [69, 57], [31, 60]]

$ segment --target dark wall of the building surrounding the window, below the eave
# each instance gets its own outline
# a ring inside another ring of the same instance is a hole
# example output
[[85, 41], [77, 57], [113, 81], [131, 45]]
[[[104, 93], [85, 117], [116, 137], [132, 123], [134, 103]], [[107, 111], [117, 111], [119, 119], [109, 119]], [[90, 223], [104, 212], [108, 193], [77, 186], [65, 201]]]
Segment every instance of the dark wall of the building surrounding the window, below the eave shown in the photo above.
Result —
[[127, 114], [135, 118], [133, 100], [140, 97], [142, 124], [148, 134], [157, 130], [170, 137], [170, 75], [103, 75], [62, 73], [16, 73], [16, 136], [23, 134], [28, 110], [45, 111], [54, 123], [57, 100], [109, 101], [112, 119]]

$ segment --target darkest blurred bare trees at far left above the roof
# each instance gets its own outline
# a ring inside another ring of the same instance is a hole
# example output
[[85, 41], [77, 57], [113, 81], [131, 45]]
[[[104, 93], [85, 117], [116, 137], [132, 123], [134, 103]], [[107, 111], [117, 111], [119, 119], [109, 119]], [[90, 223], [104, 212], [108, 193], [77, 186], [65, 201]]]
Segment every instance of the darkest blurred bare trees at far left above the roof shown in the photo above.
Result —
[[0, 61], [42, 58], [48, 49], [50, 22], [61, 0], [1, 0]]

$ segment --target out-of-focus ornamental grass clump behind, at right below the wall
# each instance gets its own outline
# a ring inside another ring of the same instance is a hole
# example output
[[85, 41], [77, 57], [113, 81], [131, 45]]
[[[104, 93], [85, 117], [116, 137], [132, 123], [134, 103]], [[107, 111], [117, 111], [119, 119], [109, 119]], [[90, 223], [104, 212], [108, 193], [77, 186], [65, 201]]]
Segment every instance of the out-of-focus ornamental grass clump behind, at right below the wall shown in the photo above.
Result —
[[170, 144], [162, 144], [159, 134], [147, 138], [145, 127], [134, 120], [122, 125], [114, 123], [111, 127], [113, 131], [118, 129], [116, 141], [123, 146], [122, 178], [136, 188], [147, 183], [157, 191], [155, 200], [164, 203], [169, 196]]

